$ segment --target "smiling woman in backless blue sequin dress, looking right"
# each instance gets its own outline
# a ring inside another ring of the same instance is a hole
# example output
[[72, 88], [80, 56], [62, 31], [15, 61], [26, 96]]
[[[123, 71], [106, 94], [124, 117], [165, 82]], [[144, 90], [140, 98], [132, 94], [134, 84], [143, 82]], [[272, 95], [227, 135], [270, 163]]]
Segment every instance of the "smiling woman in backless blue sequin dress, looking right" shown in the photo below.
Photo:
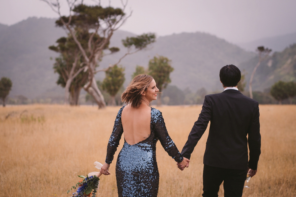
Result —
[[149, 103], [156, 100], [158, 91], [151, 76], [138, 75], [121, 96], [122, 101], [128, 104], [117, 114], [105, 164], [101, 168], [102, 174], [110, 174], [108, 169], [123, 133], [124, 145], [116, 163], [119, 197], [157, 196], [159, 173], [155, 151], [158, 140], [176, 162], [184, 167], [187, 165], [187, 159], [183, 160], [168, 135], [162, 113], [149, 107]]

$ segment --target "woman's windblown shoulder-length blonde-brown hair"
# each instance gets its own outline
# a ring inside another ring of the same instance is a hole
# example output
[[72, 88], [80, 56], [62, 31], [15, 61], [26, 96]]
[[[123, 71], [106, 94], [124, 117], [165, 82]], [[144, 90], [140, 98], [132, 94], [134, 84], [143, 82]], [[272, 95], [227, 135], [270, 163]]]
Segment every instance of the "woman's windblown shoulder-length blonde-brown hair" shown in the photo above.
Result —
[[131, 104], [133, 108], [138, 108], [141, 102], [141, 95], [149, 87], [153, 77], [150, 75], [137, 75], [130, 82], [130, 85], [125, 89], [121, 95], [121, 101], [126, 104]]

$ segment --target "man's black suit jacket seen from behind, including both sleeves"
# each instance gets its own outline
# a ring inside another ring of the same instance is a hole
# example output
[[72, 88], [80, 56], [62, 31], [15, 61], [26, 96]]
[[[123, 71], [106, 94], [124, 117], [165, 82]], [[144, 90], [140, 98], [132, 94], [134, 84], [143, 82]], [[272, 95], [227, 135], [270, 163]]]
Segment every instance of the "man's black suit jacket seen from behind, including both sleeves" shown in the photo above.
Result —
[[239, 170], [245, 170], [249, 166], [257, 170], [261, 153], [258, 105], [256, 100], [233, 89], [205, 96], [199, 118], [194, 123], [181, 154], [190, 159], [210, 121], [204, 164]]

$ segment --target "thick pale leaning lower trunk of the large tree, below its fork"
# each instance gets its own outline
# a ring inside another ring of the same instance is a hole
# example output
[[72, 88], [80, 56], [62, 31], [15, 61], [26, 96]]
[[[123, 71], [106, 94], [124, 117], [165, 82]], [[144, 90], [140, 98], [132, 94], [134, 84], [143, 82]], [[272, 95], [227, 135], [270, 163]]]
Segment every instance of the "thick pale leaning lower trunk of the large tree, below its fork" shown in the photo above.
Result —
[[[91, 83], [90, 86], [89, 86], [89, 83]], [[87, 84], [85, 84], [83, 88], [96, 101], [99, 108], [106, 107], [104, 96], [102, 95], [101, 91], [99, 90], [99, 88], [97, 86], [97, 82], [94, 77], [92, 78], [92, 81], [89, 81]]]

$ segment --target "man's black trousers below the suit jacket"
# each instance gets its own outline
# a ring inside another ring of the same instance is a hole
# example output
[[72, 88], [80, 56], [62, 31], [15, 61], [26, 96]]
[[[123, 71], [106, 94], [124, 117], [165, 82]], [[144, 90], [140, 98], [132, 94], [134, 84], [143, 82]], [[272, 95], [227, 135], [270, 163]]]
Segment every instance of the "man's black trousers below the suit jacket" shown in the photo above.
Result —
[[221, 183], [224, 197], [241, 197], [248, 170], [225, 169], [204, 165], [203, 197], [217, 197]]

